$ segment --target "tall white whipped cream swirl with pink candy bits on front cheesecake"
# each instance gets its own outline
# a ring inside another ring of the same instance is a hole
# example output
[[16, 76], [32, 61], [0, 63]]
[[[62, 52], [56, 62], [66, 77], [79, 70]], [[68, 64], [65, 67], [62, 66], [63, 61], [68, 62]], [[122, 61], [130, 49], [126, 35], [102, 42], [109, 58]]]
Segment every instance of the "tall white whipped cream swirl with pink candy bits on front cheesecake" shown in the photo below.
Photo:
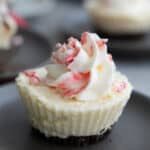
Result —
[[114, 62], [107, 53], [107, 40], [85, 32], [81, 41], [70, 38], [58, 44], [53, 64], [47, 66], [47, 84], [66, 97], [97, 100], [111, 88]]

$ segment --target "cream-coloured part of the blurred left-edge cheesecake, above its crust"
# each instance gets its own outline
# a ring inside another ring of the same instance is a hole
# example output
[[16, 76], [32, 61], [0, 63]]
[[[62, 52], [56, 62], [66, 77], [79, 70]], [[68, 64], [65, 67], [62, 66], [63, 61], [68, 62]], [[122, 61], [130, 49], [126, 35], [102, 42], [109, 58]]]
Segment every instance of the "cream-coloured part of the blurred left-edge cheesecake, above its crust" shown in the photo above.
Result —
[[9, 15], [6, 2], [0, 2], [0, 49], [7, 50], [11, 46], [12, 37], [17, 32], [17, 25]]

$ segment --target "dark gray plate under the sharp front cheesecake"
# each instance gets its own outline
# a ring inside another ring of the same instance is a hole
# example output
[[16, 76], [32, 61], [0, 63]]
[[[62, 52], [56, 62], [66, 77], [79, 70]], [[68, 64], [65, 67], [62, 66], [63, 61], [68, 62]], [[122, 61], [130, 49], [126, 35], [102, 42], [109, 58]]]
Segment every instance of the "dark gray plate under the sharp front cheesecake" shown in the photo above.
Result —
[[[6, 92], [5, 89], [3, 93]], [[150, 99], [133, 92], [119, 122], [102, 142], [87, 147], [52, 144], [40, 134], [35, 134], [27, 121], [20, 97], [2, 94], [5, 103], [0, 105], [0, 149], [3, 150], [149, 150], [150, 149]], [[0, 91], [1, 92], [1, 91]], [[8, 99], [5, 99], [9, 97]], [[10, 101], [11, 100], [11, 101]]]

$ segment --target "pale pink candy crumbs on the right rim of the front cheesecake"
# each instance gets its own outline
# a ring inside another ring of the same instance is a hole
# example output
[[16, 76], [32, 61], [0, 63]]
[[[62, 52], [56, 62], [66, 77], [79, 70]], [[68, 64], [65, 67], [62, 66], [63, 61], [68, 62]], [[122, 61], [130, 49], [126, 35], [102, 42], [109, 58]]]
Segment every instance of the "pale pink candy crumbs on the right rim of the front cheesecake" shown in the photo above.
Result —
[[113, 83], [113, 91], [116, 93], [121, 93], [127, 87], [127, 83], [125, 81], [121, 81], [120, 83]]

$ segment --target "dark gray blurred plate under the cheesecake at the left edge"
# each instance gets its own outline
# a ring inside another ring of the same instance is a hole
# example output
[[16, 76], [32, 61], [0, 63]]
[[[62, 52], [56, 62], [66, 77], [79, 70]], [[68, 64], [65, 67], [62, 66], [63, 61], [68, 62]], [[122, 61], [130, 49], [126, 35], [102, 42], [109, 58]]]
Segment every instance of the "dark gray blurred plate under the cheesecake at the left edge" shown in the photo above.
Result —
[[19, 34], [24, 43], [0, 72], [0, 83], [12, 80], [20, 71], [36, 67], [49, 59], [50, 43], [47, 39], [30, 30], [21, 29]]

